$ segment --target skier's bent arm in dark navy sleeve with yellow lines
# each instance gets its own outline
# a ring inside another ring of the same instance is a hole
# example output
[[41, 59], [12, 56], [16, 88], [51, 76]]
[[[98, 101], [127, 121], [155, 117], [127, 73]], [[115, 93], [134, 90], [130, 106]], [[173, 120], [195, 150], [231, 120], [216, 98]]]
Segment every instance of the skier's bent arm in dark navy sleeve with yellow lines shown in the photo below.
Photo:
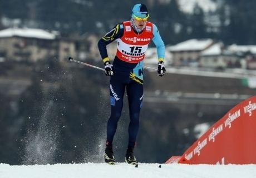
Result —
[[121, 38], [124, 34], [124, 25], [122, 23], [117, 24], [111, 31], [107, 32], [98, 42], [98, 48], [102, 61], [104, 63], [109, 62], [109, 56], [107, 55], [107, 45], [112, 43], [117, 38]]

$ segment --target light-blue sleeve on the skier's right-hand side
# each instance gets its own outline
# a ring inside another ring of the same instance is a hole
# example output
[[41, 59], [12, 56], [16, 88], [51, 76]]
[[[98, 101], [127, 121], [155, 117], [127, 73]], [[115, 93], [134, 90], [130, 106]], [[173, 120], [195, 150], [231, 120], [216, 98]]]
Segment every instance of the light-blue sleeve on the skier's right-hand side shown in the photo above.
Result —
[[153, 24], [152, 41], [155, 43], [158, 58], [164, 59], [165, 45], [155, 24]]

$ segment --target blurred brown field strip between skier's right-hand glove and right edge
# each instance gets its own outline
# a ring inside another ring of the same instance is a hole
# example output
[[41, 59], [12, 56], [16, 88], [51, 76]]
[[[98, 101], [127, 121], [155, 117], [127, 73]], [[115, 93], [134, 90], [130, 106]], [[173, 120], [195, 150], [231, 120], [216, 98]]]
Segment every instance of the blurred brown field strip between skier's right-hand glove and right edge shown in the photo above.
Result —
[[256, 95], [255, 89], [244, 86], [242, 80], [238, 78], [180, 75], [178, 73], [166, 73], [164, 77], [159, 78], [156, 72], [151, 71], [145, 72], [145, 78], [145, 87], [150, 91]]

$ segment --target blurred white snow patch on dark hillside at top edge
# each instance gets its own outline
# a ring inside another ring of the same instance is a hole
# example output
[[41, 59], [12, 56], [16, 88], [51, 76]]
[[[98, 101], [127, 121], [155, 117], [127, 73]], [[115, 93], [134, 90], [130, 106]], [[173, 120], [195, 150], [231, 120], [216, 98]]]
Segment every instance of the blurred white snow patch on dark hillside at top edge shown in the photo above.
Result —
[[217, 8], [217, 3], [211, 0], [179, 0], [178, 3], [181, 11], [190, 14], [193, 13], [196, 3], [203, 9], [204, 12], [215, 11]]

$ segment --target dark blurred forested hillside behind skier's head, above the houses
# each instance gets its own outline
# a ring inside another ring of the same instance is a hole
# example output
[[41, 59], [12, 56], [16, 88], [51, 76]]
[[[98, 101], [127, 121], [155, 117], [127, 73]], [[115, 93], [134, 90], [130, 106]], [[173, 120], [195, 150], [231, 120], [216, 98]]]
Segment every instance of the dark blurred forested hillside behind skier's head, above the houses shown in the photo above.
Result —
[[[102, 36], [116, 23], [129, 20], [135, 3], [138, 2], [0, 0], [0, 29], [19, 26], [60, 31], [63, 37]], [[255, 1], [142, 0], [140, 3], [147, 4], [149, 21], [159, 28], [166, 45], [191, 38], [255, 45], [252, 24], [256, 16], [251, 8]]]

